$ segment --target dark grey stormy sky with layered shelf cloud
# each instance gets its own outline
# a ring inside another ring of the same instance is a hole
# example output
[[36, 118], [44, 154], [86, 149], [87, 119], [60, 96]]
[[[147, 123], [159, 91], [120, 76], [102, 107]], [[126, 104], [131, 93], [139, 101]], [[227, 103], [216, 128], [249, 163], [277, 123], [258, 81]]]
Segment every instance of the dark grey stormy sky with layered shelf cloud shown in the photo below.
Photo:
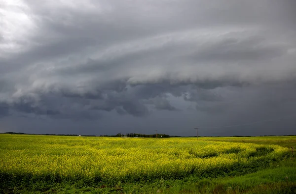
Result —
[[296, 0], [0, 0], [0, 132], [296, 134]]

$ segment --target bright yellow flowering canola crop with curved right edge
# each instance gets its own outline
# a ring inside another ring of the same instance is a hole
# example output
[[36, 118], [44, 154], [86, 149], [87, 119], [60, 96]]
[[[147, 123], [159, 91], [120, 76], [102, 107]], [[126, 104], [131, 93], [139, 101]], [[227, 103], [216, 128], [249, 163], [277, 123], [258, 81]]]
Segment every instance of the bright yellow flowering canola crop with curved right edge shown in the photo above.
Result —
[[278, 145], [196, 138], [140, 139], [0, 135], [0, 179], [82, 184], [230, 175], [269, 166], [288, 154]]

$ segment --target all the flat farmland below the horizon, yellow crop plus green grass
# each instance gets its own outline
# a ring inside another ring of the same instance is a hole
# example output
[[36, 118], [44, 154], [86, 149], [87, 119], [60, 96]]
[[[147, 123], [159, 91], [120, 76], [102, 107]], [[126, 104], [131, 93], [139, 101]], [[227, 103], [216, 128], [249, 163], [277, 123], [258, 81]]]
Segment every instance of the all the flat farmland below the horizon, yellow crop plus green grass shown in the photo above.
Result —
[[[0, 192], [252, 193], [254, 187], [222, 182], [288, 166], [287, 176], [273, 182], [289, 193], [295, 189], [290, 149], [295, 142], [294, 136], [197, 140], [1, 134]], [[280, 172], [272, 176], [285, 175]]]

